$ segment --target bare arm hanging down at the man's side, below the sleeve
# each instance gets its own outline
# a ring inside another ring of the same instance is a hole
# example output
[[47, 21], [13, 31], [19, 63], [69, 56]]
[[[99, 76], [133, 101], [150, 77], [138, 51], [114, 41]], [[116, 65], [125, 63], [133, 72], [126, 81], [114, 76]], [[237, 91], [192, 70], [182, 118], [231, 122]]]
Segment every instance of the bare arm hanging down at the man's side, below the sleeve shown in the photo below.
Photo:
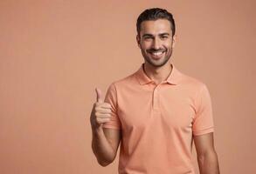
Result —
[[218, 157], [214, 149], [213, 132], [194, 136], [200, 174], [219, 174]]

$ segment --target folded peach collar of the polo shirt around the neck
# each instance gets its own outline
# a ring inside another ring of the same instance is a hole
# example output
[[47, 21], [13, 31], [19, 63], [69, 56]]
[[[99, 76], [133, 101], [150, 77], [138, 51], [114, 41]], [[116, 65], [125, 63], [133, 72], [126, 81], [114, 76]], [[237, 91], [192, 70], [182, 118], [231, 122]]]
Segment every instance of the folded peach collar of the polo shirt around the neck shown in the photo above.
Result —
[[[135, 76], [137, 77], [140, 84], [152, 83], [153, 80], [145, 74], [143, 70], [143, 66], [144, 66], [144, 63], [141, 65], [140, 69], [135, 72]], [[171, 66], [172, 66], [172, 70], [170, 72], [170, 76], [167, 77], [167, 79], [164, 80], [163, 83], [179, 84], [182, 77], [182, 73], [176, 69], [176, 66], [174, 64], [171, 64]]]

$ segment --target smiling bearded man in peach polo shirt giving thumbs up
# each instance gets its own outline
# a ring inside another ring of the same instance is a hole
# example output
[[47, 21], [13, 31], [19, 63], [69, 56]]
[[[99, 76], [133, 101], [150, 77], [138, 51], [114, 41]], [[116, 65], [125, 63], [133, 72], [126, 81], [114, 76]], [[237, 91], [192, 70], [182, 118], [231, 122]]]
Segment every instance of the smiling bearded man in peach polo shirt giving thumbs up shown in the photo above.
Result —
[[175, 22], [167, 10], [144, 10], [137, 19], [144, 63], [110, 84], [105, 100], [96, 89], [92, 148], [100, 165], [111, 164], [121, 141], [120, 174], [218, 174], [211, 97], [206, 85], [170, 63]]

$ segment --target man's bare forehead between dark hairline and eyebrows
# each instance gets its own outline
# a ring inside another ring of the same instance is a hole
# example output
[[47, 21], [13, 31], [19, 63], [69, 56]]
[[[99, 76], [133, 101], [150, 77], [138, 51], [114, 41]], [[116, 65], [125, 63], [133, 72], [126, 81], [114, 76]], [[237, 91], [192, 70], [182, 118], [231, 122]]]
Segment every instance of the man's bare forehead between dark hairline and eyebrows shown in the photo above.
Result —
[[156, 21], [143, 21], [141, 23], [141, 33], [157, 34], [168, 32], [171, 34], [170, 21], [167, 19], [157, 19]]

